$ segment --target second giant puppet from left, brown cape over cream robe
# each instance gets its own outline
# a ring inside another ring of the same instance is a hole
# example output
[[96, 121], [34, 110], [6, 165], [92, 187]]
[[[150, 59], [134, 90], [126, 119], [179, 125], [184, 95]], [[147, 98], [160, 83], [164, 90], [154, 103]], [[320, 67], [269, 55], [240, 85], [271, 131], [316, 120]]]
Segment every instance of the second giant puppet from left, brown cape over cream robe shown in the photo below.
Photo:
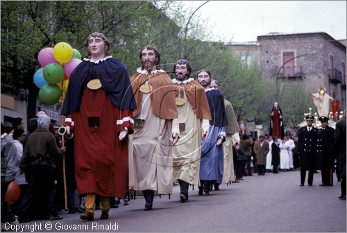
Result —
[[155, 191], [172, 193], [172, 146], [178, 141], [175, 86], [160, 69], [155, 46], [139, 52], [142, 67], [131, 76], [137, 110], [129, 142], [129, 188], [144, 193], [144, 210], [153, 209]]

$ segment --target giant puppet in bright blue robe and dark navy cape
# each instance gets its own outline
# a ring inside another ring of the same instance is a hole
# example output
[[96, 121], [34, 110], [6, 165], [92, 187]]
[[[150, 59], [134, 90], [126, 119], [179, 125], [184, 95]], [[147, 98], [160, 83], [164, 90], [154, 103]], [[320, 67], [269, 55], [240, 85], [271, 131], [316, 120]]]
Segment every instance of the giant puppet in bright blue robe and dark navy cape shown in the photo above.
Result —
[[208, 138], [201, 140], [201, 162], [200, 162], [200, 182], [199, 195], [210, 195], [210, 185], [212, 182], [221, 184], [223, 180], [223, 142], [226, 141], [226, 107], [224, 97], [221, 92], [210, 87], [212, 75], [207, 69], [198, 71], [198, 83], [205, 88], [210, 107], [211, 121], [208, 130]]

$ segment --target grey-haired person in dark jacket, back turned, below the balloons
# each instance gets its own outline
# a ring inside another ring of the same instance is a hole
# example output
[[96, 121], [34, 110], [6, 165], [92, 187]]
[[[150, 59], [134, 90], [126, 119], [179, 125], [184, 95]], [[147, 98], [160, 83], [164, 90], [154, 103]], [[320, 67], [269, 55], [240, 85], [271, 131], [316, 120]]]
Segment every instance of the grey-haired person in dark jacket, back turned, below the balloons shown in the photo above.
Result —
[[28, 138], [19, 168], [26, 173], [28, 191], [19, 207], [19, 222], [27, 223], [33, 207], [33, 198], [39, 191], [48, 196], [49, 219], [62, 219], [56, 209], [56, 165], [55, 161], [65, 152], [65, 147], [58, 148], [56, 137], [49, 132], [51, 119], [47, 115], [37, 116], [38, 130]]

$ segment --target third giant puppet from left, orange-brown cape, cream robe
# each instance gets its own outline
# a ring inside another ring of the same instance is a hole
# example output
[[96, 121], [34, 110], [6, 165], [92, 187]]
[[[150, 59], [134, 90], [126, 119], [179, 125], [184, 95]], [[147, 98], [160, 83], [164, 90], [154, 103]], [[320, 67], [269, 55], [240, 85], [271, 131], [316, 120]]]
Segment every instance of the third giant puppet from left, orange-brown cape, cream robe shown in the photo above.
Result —
[[191, 71], [192, 67], [187, 60], [178, 60], [174, 66], [176, 78], [172, 80], [177, 91], [180, 126], [180, 139], [173, 148], [174, 180], [180, 184], [181, 202], [188, 200], [189, 184], [198, 186], [201, 136], [207, 139], [211, 119], [205, 89], [194, 78], [189, 78]]

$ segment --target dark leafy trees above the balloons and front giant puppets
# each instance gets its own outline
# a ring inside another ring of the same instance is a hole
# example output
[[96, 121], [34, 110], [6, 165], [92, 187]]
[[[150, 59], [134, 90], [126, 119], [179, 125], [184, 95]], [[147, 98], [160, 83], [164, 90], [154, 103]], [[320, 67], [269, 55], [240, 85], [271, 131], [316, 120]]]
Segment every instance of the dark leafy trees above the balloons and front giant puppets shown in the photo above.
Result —
[[86, 57], [85, 40], [95, 31], [108, 37], [110, 54], [131, 73], [146, 44], [173, 54], [171, 38], [179, 28], [149, 1], [3, 1], [1, 92], [18, 94], [28, 88], [40, 68], [37, 53], [46, 46], [67, 42]]

